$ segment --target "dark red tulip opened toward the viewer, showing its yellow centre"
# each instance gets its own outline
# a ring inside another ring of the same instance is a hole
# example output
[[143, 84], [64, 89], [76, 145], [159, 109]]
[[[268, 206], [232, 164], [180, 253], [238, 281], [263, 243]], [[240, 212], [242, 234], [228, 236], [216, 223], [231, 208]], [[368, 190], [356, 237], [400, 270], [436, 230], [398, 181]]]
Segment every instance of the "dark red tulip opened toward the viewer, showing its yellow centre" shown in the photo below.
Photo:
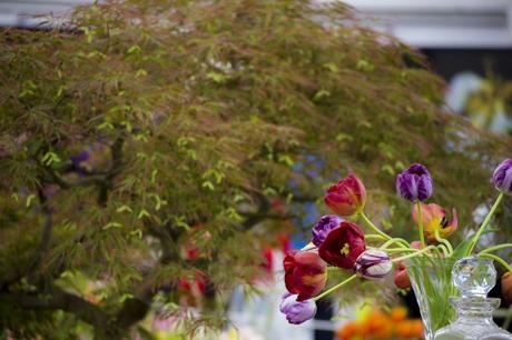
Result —
[[365, 250], [363, 230], [356, 223], [343, 221], [327, 234], [318, 248], [318, 254], [332, 266], [352, 269]]

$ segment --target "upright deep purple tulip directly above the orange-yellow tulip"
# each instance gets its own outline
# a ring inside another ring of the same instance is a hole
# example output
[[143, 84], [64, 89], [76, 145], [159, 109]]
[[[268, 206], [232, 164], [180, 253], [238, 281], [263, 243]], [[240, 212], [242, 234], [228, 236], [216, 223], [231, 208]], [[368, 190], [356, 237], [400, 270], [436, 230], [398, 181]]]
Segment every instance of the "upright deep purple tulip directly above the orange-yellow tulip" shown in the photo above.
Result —
[[412, 164], [396, 177], [396, 191], [412, 202], [425, 201], [434, 191], [434, 182], [429, 170], [422, 164]]

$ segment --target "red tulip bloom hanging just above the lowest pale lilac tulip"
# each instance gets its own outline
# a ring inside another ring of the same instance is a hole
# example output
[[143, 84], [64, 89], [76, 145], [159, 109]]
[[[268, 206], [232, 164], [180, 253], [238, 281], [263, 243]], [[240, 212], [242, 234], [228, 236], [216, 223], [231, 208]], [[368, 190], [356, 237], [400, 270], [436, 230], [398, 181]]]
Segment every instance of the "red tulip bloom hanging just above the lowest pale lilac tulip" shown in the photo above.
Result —
[[313, 298], [327, 280], [327, 264], [311, 251], [294, 250], [283, 260], [286, 289], [298, 294], [297, 301]]

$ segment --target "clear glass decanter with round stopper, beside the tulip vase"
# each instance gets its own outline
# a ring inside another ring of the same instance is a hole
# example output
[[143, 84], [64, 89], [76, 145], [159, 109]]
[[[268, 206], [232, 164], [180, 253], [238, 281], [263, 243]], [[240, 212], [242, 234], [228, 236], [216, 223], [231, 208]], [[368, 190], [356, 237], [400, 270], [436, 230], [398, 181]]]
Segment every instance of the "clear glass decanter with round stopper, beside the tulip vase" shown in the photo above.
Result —
[[453, 266], [452, 281], [460, 292], [460, 298], [450, 298], [457, 318], [436, 331], [435, 340], [512, 339], [512, 334], [492, 320], [500, 299], [488, 298], [496, 283], [496, 270], [491, 260], [477, 257], [460, 259]]

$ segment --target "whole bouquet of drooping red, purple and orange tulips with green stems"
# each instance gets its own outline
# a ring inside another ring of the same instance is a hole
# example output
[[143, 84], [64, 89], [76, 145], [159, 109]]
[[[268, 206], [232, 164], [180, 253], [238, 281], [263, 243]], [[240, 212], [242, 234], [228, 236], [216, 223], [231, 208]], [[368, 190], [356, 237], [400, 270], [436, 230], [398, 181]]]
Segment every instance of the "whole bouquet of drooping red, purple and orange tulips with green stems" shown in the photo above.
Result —
[[[363, 182], [351, 173], [328, 188], [324, 202], [335, 213], [323, 216], [312, 230], [311, 242], [301, 250], [292, 250], [284, 260], [287, 293], [283, 297], [280, 311], [291, 323], [302, 323], [316, 313], [316, 301], [356, 280], [378, 280], [395, 270], [394, 281], [398, 288], [411, 287], [411, 274], [415, 280], [429, 280], [425, 268], [439, 270], [436, 280], [445, 278], [445, 286], [425, 282], [426, 290], [416, 290], [426, 296], [429, 312], [437, 316], [433, 330], [446, 324], [451, 310], [447, 297], [454, 294], [450, 272], [439, 263], [453, 263], [471, 256], [480, 237], [485, 232], [492, 216], [506, 193], [512, 193], [512, 159], [503, 161], [494, 171], [493, 182], [499, 190], [498, 198], [489, 210], [477, 231], [457, 247], [447, 238], [457, 229], [456, 211], [451, 218], [435, 203], [425, 203], [433, 193], [433, 179], [422, 164], [413, 164], [396, 177], [398, 194], [412, 203], [412, 217], [417, 224], [419, 241], [408, 242], [387, 234], [377, 228], [365, 214], [366, 190]], [[361, 220], [371, 233], [365, 233], [355, 222]], [[490, 247], [479, 257], [501, 263], [508, 272], [512, 268], [494, 252], [512, 243]], [[441, 262], [440, 262], [441, 261]], [[324, 290], [328, 269], [342, 269], [352, 276]], [[415, 288], [415, 287], [414, 287]], [[324, 291], [323, 291], [324, 290]], [[423, 311], [422, 311], [423, 316]], [[423, 316], [425, 319], [425, 316]], [[424, 320], [425, 321], [425, 320]], [[429, 327], [425, 324], [425, 327]]]

